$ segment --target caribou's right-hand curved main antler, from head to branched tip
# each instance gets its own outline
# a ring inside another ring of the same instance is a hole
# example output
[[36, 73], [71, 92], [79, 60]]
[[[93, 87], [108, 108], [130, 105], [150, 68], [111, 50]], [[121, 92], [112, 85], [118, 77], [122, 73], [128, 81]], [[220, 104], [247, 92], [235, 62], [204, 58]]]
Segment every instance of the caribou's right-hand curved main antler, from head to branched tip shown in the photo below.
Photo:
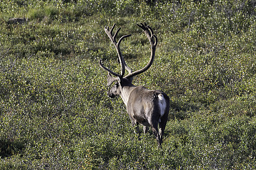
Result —
[[138, 27], [143, 29], [143, 31], [145, 32], [145, 34], [150, 42], [150, 45], [151, 45], [150, 60], [148, 61], [147, 66], [143, 67], [142, 69], [140, 69], [138, 71], [134, 71], [133, 73], [128, 74], [127, 76], [125, 76], [125, 78], [131, 78], [132, 76], [136, 76], [138, 74], [141, 74], [141, 73], [147, 71], [147, 69], [152, 65], [152, 63], [154, 61], [154, 57], [155, 57], [155, 53], [156, 53], [156, 45], [157, 45], [157, 36], [154, 34], [153, 29], [150, 26], [148, 26], [146, 23], [144, 23], [144, 24], [140, 23], [140, 24], [137, 24]]

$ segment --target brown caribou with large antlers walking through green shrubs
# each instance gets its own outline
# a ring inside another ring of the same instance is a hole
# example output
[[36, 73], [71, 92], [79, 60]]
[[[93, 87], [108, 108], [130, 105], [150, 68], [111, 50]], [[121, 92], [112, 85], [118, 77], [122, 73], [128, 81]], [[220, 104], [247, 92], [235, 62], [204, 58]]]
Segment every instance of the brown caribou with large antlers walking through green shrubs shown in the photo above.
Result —
[[[116, 41], [116, 36], [120, 31], [120, 27], [117, 29], [113, 35], [113, 29], [115, 25], [109, 31], [109, 27], [105, 27], [104, 31], [108, 35], [111, 43], [115, 45], [116, 52], [118, 54], [118, 62], [121, 66], [121, 73], [115, 73], [108, 67], [105, 67], [102, 63], [102, 60], [99, 60], [99, 66], [102, 69], [108, 71], [108, 86], [116, 81], [115, 85], [108, 90], [108, 97], [120, 96], [124, 101], [126, 106], [127, 113], [131, 119], [132, 126], [136, 126], [136, 132], [140, 139], [140, 131], [138, 125], [143, 125], [143, 132], [148, 131], [148, 127], [152, 128], [154, 135], [156, 136], [157, 143], [161, 146], [163, 141], [164, 129], [168, 120], [168, 114], [170, 110], [170, 99], [169, 97], [160, 90], [148, 90], [143, 86], [135, 86], [132, 84], [132, 78], [138, 74], [141, 74], [152, 65], [157, 46], [157, 36], [154, 34], [152, 28], [147, 24], [137, 24], [138, 27], [143, 29], [145, 32], [150, 45], [151, 45], [151, 55], [150, 60], [147, 65], [138, 71], [132, 72], [132, 69], [127, 66], [125, 63], [124, 57], [122, 56], [120, 50], [120, 43], [124, 38], [131, 36], [124, 35], [118, 41]], [[125, 69], [128, 71], [128, 74], [124, 76]], [[112, 76], [113, 75], [113, 76]], [[114, 77], [115, 76], [115, 77]], [[159, 130], [158, 130], [159, 125]]]

